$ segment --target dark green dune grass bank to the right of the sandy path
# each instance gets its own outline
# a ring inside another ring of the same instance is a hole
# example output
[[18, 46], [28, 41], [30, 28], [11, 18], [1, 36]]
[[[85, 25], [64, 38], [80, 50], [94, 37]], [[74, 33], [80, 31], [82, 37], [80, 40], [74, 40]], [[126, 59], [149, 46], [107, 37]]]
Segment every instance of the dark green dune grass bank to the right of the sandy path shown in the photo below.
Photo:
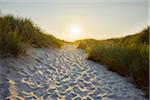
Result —
[[105, 64], [108, 69], [130, 77], [138, 87], [149, 91], [149, 27], [124, 38], [79, 40], [79, 48], [89, 59]]

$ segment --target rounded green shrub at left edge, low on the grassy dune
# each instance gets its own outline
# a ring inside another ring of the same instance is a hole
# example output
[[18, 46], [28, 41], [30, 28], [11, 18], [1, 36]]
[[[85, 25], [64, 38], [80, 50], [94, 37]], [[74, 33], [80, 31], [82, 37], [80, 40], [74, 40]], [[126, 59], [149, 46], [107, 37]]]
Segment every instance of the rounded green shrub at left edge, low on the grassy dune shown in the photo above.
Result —
[[9, 32], [7, 35], [1, 37], [0, 49], [2, 54], [18, 55], [24, 53], [27, 49], [27, 44], [22, 43], [22, 37], [16, 32]]

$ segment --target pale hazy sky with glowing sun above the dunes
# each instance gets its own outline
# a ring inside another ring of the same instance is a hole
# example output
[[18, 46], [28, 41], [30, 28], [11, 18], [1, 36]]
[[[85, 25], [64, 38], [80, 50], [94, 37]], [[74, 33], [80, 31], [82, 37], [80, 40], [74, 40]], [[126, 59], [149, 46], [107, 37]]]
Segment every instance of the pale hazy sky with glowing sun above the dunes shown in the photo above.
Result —
[[74, 41], [107, 39], [148, 25], [148, 0], [0, 0], [2, 14], [31, 19], [44, 32]]

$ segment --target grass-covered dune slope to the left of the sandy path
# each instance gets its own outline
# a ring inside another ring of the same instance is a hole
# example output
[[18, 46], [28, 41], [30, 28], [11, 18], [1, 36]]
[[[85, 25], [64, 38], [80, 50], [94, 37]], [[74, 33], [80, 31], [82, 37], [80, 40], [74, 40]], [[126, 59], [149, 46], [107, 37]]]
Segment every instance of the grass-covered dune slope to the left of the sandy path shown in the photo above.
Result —
[[0, 16], [0, 53], [15, 55], [25, 53], [28, 47], [57, 47], [62, 42], [52, 35], [44, 34], [29, 19]]

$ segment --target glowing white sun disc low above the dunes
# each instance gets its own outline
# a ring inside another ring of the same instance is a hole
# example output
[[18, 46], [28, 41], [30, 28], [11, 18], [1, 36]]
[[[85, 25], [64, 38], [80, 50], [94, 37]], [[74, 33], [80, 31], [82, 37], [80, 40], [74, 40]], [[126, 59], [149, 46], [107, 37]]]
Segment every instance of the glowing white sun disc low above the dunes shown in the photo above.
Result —
[[81, 36], [82, 30], [79, 26], [72, 26], [69, 29], [69, 34], [73, 36]]

